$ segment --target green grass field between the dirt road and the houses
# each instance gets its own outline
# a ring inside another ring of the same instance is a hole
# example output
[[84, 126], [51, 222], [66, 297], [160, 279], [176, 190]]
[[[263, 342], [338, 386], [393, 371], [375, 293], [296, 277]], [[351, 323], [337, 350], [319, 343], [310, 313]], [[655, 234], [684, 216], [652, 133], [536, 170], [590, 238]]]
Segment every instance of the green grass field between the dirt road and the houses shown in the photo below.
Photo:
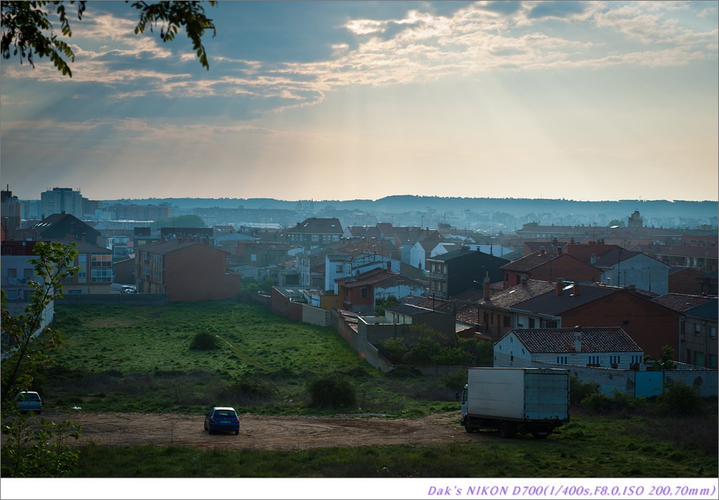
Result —
[[[201, 413], [221, 401], [243, 412], [316, 413], [321, 411], [307, 404], [307, 382], [339, 374], [351, 377], [364, 412], [407, 416], [457, 409], [454, 391], [441, 378], [383, 375], [334, 329], [262, 307], [68, 305], [56, 312], [65, 346], [42, 384], [48, 408]], [[192, 350], [198, 333], [214, 335], [218, 347]], [[243, 390], [234, 390], [237, 384]]]

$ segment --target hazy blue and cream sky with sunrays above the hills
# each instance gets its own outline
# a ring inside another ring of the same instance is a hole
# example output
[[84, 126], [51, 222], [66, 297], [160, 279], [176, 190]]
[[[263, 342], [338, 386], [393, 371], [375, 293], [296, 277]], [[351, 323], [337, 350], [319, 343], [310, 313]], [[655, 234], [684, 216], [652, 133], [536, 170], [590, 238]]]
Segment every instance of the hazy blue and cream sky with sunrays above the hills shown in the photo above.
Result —
[[220, 1], [206, 70], [183, 32], [136, 35], [129, 4], [88, 1], [72, 78], [0, 62], [0, 182], [20, 199], [718, 200], [718, 6]]

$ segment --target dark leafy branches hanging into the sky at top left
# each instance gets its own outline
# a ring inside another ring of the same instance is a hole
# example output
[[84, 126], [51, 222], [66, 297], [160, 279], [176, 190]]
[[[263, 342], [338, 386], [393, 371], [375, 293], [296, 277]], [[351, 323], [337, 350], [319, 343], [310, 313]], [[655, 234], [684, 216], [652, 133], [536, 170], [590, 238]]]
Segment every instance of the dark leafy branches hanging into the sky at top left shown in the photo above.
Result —
[[[38, 57], [50, 57], [50, 61], [63, 75], [72, 78], [66, 59], [75, 62], [75, 52], [72, 47], [55, 34], [50, 16], [56, 15], [60, 22], [60, 31], [63, 37], [72, 37], [73, 30], [70, 27], [68, 13], [65, 10], [65, 3], [77, 5], [78, 20], [83, 19], [86, 10], [86, 1], [68, 2], [55, 1], [3, 1], [2, 9], [2, 40], [0, 52], [4, 59], [12, 55], [20, 56], [20, 64], [27, 60], [29, 65], [35, 68], [35, 55]], [[129, 2], [125, 2], [129, 3]], [[205, 30], [212, 30], [216, 34], [215, 25], [212, 19], [205, 15], [201, 1], [158, 1], [145, 2], [134, 1], [131, 6], [139, 12], [139, 19], [134, 33], [144, 33], [145, 29], [150, 32], [160, 26], [160, 40], [171, 42], [178, 34], [180, 27], [184, 27], [187, 37], [192, 41], [192, 48], [196, 52], [201, 65], [209, 70], [207, 53], [202, 45], [202, 37]], [[215, 6], [216, 1], [207, 2]], [[13, 48], [14, 47], [14, 48]]]

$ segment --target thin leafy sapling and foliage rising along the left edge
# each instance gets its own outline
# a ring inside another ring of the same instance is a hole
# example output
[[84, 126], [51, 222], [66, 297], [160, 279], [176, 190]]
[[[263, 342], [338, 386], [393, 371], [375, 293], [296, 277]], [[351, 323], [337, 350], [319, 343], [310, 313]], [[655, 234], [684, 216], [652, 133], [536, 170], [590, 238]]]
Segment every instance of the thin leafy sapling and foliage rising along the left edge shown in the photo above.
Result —
[[65, 444], [68, 437], [79, 437], [79, 427], [65, 421], [55, 424], [40, 419], [30, 421], [19, 412], [15, 394], [33, 388], [40, 369], [52, 364], [52, 349], [62, 345], [58, 330], [41, 327], [47, 306], [63, 296], [63, 280], [77, 272], [73, 267], [75, 244], [64, 245], [39, 241], [33, 249], [37, 258], [30, 262], [37, 279], [29, 281], [32, 297], [22, 314], [12, 315], [4, 290], [1, 295], [2, 355], [0, 364], [0, 397], [2, 428], [6, 436], [0, 460], [2, 476], [58, 477], [70, 472], [78, 452]]

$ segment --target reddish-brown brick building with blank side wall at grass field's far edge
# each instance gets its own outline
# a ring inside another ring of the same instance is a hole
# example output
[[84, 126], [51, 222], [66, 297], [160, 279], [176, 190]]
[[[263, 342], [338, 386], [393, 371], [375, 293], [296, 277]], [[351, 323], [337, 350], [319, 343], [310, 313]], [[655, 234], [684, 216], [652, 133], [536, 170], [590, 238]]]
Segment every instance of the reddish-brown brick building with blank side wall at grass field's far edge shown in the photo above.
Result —
[[158, 241], [135, 250], [137, 293], [167, 293], [170, 302], [237, 297], [239, 274], [227, 272], [227, 252], [198, 241]]

